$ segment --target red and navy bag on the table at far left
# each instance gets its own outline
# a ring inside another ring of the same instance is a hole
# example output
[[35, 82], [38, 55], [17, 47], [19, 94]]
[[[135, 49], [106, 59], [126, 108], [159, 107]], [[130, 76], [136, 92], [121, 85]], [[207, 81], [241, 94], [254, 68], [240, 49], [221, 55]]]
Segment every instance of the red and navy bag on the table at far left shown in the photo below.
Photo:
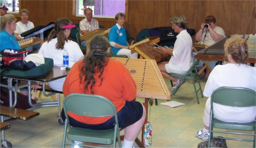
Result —
[[21, 50], [21, 49], [5, 49], [1, 51], [2, 61], [1, 64], [5, 68], [29, 70], [35, 67], [33, 62], [25, 62], [24, 58], [28, 54], [32, 54], [34, 51]]

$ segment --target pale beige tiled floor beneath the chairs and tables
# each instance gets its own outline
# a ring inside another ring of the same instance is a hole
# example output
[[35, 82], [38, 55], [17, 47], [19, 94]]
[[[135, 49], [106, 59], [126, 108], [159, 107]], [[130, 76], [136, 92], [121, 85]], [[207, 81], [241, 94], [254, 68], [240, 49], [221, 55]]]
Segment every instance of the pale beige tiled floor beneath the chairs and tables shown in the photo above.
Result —
[[[166, 80], [166, 84], [170, 82]], [[202, 88], [205, 82], [202, 82]], [[61, 95], [63, 100], [63, 95]], [[42, 101], [51, 100], [42, 98]], [[160, 105], [165, 100], [158, 100], [158, 106], [151, 107], [152, 145], [151, 147], [197, 147], [201, 139], [195, 137], [197, 130], [203, 127], [203, 110], [206, 98], [200, 98], [198, 105], [193, 85], [188, 82], [172, 97], [172, 100], [185, 103], [177, 108]], [[137, 98], [143, 102], [143, 98]], [[154, 100], [155, 101], [155, 100]], [[13, 147], [61, 147], [63, 125], [58, 124], [57, 107], [40, 108], [39, 116], [28, 121], [8, 121], [11, 127], [5, 131], [5, 138]], [[121, 134], [123, 131], [121, 131]], [[141, 135], [138, 136], [141, 138]], [[227, 140], [228, 147], [252, 147], [250, 142]], [[104, 146], [105, 147], [105, 146]]]

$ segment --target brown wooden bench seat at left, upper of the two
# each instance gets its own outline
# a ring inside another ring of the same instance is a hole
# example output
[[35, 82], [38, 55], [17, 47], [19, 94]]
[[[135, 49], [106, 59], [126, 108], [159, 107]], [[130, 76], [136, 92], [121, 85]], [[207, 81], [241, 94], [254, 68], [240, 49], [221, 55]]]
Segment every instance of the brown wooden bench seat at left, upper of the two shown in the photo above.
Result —
[[14, 119], [28, 120], [34, 116], [39, 115], [39, 112], [34, 112], [25, 109], [11, 108], [6, 106], [0, 107], [0, 115], [6, 117], [12, 117]]

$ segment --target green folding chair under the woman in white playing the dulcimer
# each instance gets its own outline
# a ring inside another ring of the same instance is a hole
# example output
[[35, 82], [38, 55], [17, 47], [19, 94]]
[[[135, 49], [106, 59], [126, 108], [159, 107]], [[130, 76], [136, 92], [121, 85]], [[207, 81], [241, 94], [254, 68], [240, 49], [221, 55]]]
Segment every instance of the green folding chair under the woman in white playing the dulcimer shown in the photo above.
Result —
[[[195, 91], [195, 96], [196, 96], [196, 100], [198, 101], [199, 104], [199, 99], [198, 99], [198, 92], [200, 91], [201, 93], [201, 97], [203, 98], [203, 92], [202, 92], [202, 88], [201, 88], [201, 84], [200, 84], [200, 80], [199, 80], [199, 75], [198, 75], [198, 69], [196, 69], [196, 65], [198, 65], [199, 60], [196, 60], [191, 68], [189, 68], [189, 70], [185, 73], [185, 75], [180, 75], [177, 73], [170, 73], [170, 76], [172, 77], [176, 77], [176, 78], [181, 78], [180, 82], [183, 82], [184, 80], [192, 80], [193, 82], [193, 86], [194, 86], [194, 91]], [[199, 88], [197, 89], [195, 86], [195, 82], [198, 82]], [[175, 93], [179, 90], [180, 86], [183, 83], [179, 83], [176, 88], [174, 88], [174, 90], [172, 91], [172, 95], [175, 95]]]

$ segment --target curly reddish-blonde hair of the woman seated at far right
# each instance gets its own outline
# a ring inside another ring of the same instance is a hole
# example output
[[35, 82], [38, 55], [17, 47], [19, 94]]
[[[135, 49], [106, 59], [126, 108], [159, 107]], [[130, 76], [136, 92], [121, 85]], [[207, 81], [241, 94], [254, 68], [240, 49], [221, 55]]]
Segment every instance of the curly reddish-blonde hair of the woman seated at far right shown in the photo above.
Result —
[[234, 35], [226, 40], [225, 54], [230, 54], [232, 59], [238, 64], [246, 64], [248, 60], [248, 45], [246, 40], [239, 35]]

